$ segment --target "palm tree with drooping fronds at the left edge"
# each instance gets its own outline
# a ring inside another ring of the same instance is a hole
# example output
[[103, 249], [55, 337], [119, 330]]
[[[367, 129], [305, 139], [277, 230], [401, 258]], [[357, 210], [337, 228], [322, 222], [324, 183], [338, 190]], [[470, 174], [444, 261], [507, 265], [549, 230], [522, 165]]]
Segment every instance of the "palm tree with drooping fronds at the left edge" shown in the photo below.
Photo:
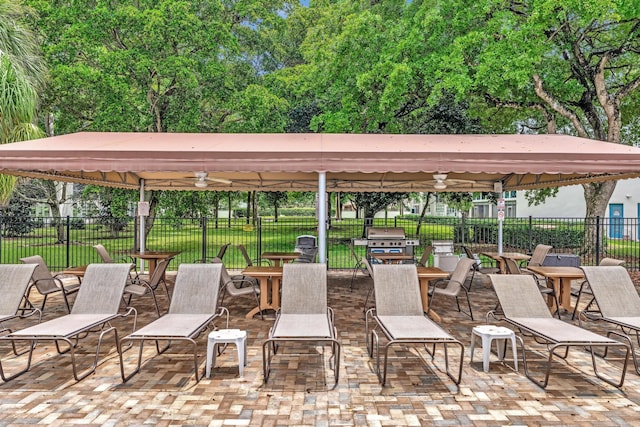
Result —
[[[44, 135], [35, 118], [47, 71], [38, 42], [24, 21], [27, 12], [19, 0], [0, 0], [1, 144]], [[15, 185], [15, 177], [0, 175], [0, 206], [6, 206]]]

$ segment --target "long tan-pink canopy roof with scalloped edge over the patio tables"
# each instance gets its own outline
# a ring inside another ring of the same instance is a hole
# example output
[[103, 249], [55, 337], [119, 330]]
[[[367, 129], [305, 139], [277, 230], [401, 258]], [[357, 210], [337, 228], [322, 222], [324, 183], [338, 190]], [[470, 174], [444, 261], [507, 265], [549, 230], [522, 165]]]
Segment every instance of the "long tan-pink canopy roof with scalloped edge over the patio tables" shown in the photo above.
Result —
[[[533, 189], [640, 176], [640, 149], [566, 135], [80, 132], [0, 146], [2, 173], [87, 184], [194, 190]], [[442, 178], [442, 177], [441, 177]], [[204, 187], [200, 187], [204, 189]]]

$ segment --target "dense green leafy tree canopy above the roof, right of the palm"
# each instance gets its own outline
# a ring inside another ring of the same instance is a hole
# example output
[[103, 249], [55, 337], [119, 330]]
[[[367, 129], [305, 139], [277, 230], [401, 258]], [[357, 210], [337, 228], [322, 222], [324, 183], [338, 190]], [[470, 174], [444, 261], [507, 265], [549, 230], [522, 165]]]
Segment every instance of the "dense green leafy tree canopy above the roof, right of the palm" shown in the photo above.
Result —
[[[37, 12], [22, 18], [51, 70], [40, 118], [57, 133], [560, 132], [639, 140], [635, 1], [25, 4]], [[604, 215], [614, 186], [584, 186], [588, 216]]]

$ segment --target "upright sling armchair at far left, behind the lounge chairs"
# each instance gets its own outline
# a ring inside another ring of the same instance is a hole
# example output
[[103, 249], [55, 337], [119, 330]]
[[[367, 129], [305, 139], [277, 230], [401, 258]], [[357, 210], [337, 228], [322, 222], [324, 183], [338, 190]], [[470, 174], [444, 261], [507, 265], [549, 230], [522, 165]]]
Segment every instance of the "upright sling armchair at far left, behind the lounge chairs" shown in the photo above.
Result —
[[31, 277], [32, 283], [29, 286], [29, 289], [27, 289], [25, 297], [25, 308], [33, 307], [29, 300], [29, 296], [31, 295], [31, 290], [36, 288], [36, 290], [43, 296], [42, 306], [40, 306], [41, 311], [44, 312], [47, 297], [51, 294], [60, 292], [64, 299], [64, 305], [67, 308], [67, 313], [71, 313], [68, 296], [78, 292], [78, 289], [80, 288], [79, 279], [77, 277], [64, 277], [60, 274], [52, 274], [40, 255], [20, 258], [20, 261], [25, 264], [36, 264], [36, 269]]

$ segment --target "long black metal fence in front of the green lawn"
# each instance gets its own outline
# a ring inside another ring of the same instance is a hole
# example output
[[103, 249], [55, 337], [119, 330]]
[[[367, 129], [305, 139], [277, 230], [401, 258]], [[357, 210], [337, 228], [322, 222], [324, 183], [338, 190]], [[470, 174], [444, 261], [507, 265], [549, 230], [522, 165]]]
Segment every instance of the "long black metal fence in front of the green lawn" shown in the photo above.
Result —
[[[25, 225], [26, 224], [26, 225]], [[451, 240], [461, 251], [466, 245], [474, 253], [495, 251], [498, 243], [496, 219], [415, 217], [375, 219], [376, 227], [403, 227], [407, 238], [419, 239], [419, 257], [433, 240]], [[539, 243], [553, 246], [552, 252], [580, 256], [590, 265], [605, 257], [626, 261], [629, 269], [640, 268], [637, 218], [506, 218], [502, 224], [505, 252], [531, 252]], [[364, 236], [363, 219], [332, 219], [327, 229], [327, 263], [330, 269], [355, 265], [348, 245]], [[247, 224], [245, 218], [157, 219], [146, 237], [147, 250], [179, 251], [173, 267], [180, 263], [202, 262], [215, 256], [220, 246], [230, 243], [224, 261], [229, 268], [245, 265], [235, 245], [244, 245], [252, 259], [267, 251], [291, 251], [299, 235], [317, 235], [317, 221], [307, 217], [259, 218]], [[138, 225], [135, 218], [104, 224], [97, 218], [38, 218], [20, 224], [0, 223], [0, 262], [19, 263], [20, 258], [39, 254], [54, 270], [99, 262], [95, 244], [104, 245], [116, 259], [124, 259], [136, 249]], [[589, 236], [589, 237], [585, 237]], [[598, 242], [598, 244], [587, 244]], [[366, 248], [356, 246], [359, 255]]]

